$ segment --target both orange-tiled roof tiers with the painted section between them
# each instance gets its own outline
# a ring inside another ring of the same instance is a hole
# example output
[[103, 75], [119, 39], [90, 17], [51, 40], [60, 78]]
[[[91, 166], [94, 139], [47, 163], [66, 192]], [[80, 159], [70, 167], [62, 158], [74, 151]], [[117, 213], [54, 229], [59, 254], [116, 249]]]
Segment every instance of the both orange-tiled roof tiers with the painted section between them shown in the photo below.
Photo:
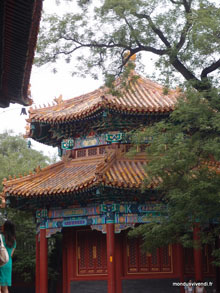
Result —
[[[4, 194], [15, 206], [18, 202], [39, 206], [52, 205], [55, 200], [68, 204], [101, 201], [108, 199], [108, 189], [111, 196], [113, 189], [117, 196], [119, 190], [129, 189], [127, 200], [134, 200], [147, 176], [147, 160], [144, 154], [127, 156], [130, 143], [126, 134], [169, 115], [178, 95], [175, 90], [164, 94], [162, 86], [140, 77], [119, 96], [101, 87], [69, 100], [60, 96], [52, 106], [30, 109], [26, 137], [58, 146], [62, 160], [22, 178], [4, 180]], [[69, 138], [72, 149], [62, 150]]]

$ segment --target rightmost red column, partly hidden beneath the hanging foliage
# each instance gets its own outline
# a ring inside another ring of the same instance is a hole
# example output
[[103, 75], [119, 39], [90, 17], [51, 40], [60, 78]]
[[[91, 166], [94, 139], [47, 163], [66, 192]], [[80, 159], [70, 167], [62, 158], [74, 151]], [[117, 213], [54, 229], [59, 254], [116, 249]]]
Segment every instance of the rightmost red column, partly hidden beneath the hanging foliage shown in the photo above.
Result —
[[[199, 237], [200, 227], [199, 224], [195, 224], [193, 227], [193, 241], [195, 246], [199, 246], [200, 244], [200, 237]], [[194, 267], [195, 267], [195, 280], [202, 281], [202, 249], [200, 247], [194, 248]]]

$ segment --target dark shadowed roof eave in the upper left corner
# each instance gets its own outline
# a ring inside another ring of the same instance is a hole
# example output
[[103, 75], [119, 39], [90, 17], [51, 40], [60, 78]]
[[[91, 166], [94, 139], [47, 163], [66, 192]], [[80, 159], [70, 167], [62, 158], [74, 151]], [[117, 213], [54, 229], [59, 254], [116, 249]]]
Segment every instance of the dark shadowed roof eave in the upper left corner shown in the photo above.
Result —
[[0, 1], [0, 107], [32, 103], [29, 80], [42, 2]]

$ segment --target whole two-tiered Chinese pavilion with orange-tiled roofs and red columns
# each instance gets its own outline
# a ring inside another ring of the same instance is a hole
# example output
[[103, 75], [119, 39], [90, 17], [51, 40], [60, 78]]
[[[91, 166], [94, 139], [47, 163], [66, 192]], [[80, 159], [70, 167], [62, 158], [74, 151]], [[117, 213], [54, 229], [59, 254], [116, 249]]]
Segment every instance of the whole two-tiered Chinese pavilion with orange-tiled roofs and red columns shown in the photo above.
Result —
[[131, 227], [160, 217], [157, 182], [140, 191], [146, 154], [127, 156], [129, 132], [167, 117], [178, 95], [140, 77], [119, 96], [101, 87], [29, 110], [26, 136], [57, 146], [62, 157], [3, 182], [12, 207], [36, 211], [36, 293], [48, 292], [47, 239], [56, 232], [63, 235], [63, 293], [179, 292], [172, 282], [213, 277], [208, 247], [172, 244], [146, 253], [141, 239], [127, 237]]

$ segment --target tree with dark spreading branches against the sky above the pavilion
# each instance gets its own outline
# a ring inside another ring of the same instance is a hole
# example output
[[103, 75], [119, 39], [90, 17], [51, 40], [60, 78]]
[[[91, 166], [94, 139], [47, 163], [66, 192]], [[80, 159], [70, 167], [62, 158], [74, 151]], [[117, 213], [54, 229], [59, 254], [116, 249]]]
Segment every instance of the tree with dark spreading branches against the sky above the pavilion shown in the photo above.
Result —
[[[69, 1], [71, 2], [71, 1]], [[150, 52], [165, 82], [174, 72], [197, 90], [208, 90], [219, 79], [220, 9], [213, 0], [78, 0], [77, 13], [46, 18], [38, 42], [38, 65], [63, 55], [74, 70], [97, 68], [112, 80], [126, 72], [129, 59]], [[73, 4], [71, 4], [73, 5]], [[126, 55], [125, 53], [129, 52]], [[144, 56], [144, 55], [143, 55]]]

